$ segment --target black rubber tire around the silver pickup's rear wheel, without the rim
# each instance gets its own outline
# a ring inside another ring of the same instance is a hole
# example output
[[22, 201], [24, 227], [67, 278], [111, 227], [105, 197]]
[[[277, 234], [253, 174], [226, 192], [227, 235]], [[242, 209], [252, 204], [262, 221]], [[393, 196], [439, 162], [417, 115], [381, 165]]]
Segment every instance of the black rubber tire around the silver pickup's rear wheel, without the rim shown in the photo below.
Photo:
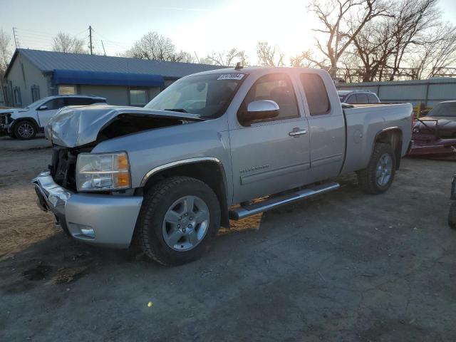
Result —
[[[392, 169], [388, 182], [383, 185], [380, 185], [376, 177], [378, 162], [383, 155], [388, 154], [392, 160]], [[371, 155], [371, 160], [369, 161], [368, 167], [366, 169], [358, 171], [358, 183], [363, 192], [368, 194], [378, 195], [390, 187], [391, 183], [394, 180], [396, 169], [396, 158], [393, 148], [388, 144], [375, 143], [373, 147], [373, 152]]]

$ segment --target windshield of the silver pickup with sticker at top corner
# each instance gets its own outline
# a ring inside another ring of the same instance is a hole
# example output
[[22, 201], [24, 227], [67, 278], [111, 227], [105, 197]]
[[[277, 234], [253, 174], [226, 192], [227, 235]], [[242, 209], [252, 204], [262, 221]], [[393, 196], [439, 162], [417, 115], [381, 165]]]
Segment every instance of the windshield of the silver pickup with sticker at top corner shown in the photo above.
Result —
[[227, 110], [245, 77], [244, 73], [211, 73], [181, 78], [153, 98], [145, 108], [217, 118]]

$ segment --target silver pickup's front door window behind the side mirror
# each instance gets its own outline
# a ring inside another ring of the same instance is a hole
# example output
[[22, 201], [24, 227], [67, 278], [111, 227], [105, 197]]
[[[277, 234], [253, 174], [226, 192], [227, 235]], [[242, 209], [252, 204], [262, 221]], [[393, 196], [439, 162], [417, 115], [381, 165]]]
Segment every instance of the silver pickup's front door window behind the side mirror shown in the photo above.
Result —
[[279, 115], [274, 119], [281, 120], [299, 116], [298, 103], [293, 85], [285, 73], [272, 73], [260, 77], [250, 88], [239, 110], [247, 110], [247, 105], [258, 100], [273, 100], [279, 105]]

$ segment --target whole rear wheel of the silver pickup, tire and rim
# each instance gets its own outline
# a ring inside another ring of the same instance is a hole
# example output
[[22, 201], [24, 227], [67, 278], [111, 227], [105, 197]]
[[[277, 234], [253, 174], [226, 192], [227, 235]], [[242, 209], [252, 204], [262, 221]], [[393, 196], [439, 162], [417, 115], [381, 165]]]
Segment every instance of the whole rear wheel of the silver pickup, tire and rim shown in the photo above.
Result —
[[368, 167], [358, 171], [358, 183], [363, 192], [373, 195], [381, 194], [391, 186], [395, 169], [396, 159], [393, 147], [376, 143]]

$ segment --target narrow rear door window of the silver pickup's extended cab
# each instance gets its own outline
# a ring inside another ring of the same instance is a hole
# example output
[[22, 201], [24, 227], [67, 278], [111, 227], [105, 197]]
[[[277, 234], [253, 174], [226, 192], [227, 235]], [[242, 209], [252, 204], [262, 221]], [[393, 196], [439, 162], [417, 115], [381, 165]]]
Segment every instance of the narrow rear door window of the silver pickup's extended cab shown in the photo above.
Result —
[[331, 105], [321, 77], [316, 73], [301, 73], [301, 83], [311, 115], [328, 114]]

